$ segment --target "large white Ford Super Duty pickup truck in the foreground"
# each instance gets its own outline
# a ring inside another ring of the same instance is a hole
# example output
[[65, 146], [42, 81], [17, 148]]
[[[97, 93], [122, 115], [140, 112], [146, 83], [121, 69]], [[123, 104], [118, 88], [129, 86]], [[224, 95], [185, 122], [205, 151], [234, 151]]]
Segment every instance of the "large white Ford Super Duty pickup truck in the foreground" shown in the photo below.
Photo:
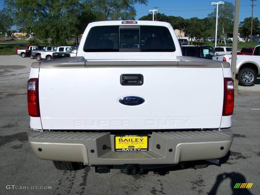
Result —
[[182, 56], [171, 24], [93, 22], [77, 57], [32, 64], [28, 139], [59, 170], [202, 168], [231, 147], [233, 105], [230, 64]]

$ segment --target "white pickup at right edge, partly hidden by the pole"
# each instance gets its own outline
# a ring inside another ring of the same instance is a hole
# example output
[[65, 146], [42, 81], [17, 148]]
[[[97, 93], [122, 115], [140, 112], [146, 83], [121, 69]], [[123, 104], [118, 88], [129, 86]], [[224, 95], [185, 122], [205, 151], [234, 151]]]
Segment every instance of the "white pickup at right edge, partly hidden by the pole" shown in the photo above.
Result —
[[[255, 47], [253, 55], [237, 55], [236, 78], [242, 86], [253, 86], [260, 76], [260, 45]], [[213, 56], [213, 60], [229, 62], [232, 55]]]

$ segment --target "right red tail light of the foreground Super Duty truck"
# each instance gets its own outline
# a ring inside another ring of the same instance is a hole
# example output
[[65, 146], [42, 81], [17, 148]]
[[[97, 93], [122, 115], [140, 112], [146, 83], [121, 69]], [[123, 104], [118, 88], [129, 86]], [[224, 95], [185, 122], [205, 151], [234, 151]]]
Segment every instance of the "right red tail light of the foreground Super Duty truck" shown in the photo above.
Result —
[[224, 100], [222, 116], [233, 114], [234, 110], [234, 81], [231, 78], [224, 78]]

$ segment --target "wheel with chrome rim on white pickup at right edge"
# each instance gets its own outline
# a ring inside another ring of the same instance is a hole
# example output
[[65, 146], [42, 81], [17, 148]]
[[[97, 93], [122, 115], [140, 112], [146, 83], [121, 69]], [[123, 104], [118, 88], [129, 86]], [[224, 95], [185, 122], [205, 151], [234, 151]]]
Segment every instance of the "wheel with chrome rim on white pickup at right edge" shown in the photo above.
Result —
[[252, 68], [243, 68], [239, 71], [238, 82], [242, 86], [253, 86], [256, 82], [256, 71]]

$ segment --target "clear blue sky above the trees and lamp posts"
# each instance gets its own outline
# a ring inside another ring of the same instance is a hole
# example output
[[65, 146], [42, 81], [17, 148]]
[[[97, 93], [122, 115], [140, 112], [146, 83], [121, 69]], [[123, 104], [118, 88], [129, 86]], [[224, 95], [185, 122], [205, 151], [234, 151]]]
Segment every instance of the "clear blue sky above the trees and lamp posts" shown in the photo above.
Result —
[[[140, 17], [149, 13], [150, 9], [158, 7], [158, 12], [167, 16], [181, 16], [185, 19], [191, 17], [205, 18], [211, 13], [215, 6], [211, 5], [211, 2], [218, 2], [214, 0], [148, 0], [148, 5], [135, 4], [136, 17], [138, 20]], [[228, 0], [235, 5], [235, 0]], [[0, 0], [0, 10], [3, 9], [4, 0]], [[239, 6], [239, 21], [243, 21], [244, 18], [251, 17], [252, 2], [250, 0], [240, 0]], [[260, 0], [254, 1], [254, 17], [258, 17], [260, 20]], [[220, 5], [221, 6], [221, 5]]]

